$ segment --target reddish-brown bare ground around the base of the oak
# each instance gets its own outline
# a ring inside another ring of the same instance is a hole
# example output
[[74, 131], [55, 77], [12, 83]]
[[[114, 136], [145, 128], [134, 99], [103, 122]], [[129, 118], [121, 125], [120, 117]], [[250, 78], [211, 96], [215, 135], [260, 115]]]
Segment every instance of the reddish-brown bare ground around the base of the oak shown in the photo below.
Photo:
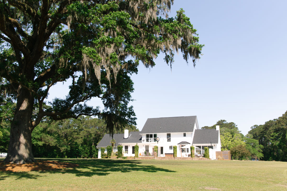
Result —
[[4, 164], [0, 163], [0, 171], [11, 172], [30, 172], [30, 171], [49, 171], [49, 170], [64, 170], [67, 168], [75, 168], [79, 165], [71, 163], [63, 163], [57, 161], [38, 161], [27, 164]]

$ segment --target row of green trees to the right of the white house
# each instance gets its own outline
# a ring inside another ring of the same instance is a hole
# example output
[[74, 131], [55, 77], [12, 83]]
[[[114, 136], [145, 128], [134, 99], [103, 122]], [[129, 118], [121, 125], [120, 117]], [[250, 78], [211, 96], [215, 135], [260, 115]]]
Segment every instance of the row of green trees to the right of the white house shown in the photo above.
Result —
[[252, 126], [247, 135], [226, 120], [201, 129], [215, 129], [216, 125], [220, 126], [221, 150], [230, 150], [232, 159], [287, 161], [287, 111], [278, 119]]

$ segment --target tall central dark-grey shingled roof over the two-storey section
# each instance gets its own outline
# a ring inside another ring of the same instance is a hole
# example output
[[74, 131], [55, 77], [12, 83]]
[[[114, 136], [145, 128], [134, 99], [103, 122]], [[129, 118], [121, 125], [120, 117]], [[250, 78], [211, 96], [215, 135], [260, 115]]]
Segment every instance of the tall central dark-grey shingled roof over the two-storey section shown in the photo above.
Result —
[[148, 118], [141, 134], [193, 132], [196, 116]]

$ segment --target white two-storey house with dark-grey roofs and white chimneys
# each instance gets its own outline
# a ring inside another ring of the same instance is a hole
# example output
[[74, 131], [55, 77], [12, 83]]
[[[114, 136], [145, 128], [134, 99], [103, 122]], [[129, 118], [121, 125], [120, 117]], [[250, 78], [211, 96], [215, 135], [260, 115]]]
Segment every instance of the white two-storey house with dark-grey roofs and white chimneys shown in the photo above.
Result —
[[[162, 117], [147, 119], [141, 131], [114, 134], [117, 145], [123, 145], [123, 156], [134, 156], [134, 146], [139, 145], [139, 156], [154, 156], [154, 146], [158, 146], [158, 157], [173, 156], [173, 146], [177, 146], [177, 157], [188, 157], [193, 145], [197, 155], [204, 153], [204, 147], [221, 150], [219, 126], [216, 129], [199, 129], [197, 117]], [[104, 135], [96, 147], [107, 147], [112, 137]]]

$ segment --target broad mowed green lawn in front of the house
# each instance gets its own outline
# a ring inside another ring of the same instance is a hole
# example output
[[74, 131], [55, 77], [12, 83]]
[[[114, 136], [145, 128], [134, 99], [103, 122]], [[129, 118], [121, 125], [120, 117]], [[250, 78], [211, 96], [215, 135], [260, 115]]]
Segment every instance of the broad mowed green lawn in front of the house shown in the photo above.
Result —
[[287, 162], [46, 159], [75, 169], [0, 172], [1, 190], [287, 190]]

